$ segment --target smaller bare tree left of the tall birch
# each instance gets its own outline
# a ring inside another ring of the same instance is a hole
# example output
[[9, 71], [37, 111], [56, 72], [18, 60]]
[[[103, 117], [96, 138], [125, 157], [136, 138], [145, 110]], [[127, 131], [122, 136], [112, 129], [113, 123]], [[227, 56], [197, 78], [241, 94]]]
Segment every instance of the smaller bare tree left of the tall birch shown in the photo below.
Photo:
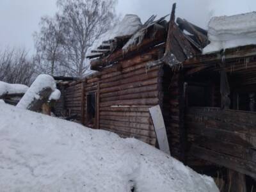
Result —
[[34, 33], [36, 55], [34, 61], [38, 74], [63, 75], [65, 59], [63, 54], [63, 22], [60, 17], [42, 17], [40, 31]]

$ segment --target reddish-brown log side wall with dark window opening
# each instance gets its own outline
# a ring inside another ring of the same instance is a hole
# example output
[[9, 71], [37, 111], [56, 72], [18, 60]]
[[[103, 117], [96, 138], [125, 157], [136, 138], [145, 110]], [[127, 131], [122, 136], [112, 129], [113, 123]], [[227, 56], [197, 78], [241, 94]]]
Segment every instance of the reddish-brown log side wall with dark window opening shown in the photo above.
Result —
[[95, 128], [155, 145], [156, 134], [148, 108], [159, 104], [159, 81], [163, 73], [160, 67], [146, 70], [146, 65], [156, 59], [157, 51], [158, 48], [148, 49], [143, 54], [118, 61], [113, 67], [86, 77], [83, 79], [83, 94], [81, 82], [69, 84], [65, 88], [65, 108], [70, 110], [71, 115], [77, 114], [77, 120], [81, 120], [81, 97], [84, 95], [86, 125], [86, 94], [95, 92]]

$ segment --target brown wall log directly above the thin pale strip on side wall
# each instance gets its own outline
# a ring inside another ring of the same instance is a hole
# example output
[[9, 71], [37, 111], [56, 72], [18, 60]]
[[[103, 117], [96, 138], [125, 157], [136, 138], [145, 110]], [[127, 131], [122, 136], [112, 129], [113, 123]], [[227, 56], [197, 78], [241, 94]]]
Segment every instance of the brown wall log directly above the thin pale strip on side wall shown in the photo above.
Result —
[[100, 102], [100, 107], [107, 106], [154, 106], [159, 102], [158, 98], [132, 99], [132, 100], [114, 100], [108, 102]]

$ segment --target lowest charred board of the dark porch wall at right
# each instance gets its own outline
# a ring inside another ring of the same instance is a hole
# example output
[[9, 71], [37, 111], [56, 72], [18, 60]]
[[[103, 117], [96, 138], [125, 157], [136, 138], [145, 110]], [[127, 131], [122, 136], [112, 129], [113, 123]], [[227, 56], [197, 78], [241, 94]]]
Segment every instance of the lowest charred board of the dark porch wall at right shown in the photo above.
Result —
[[256, 179], [256, 163], [255, 162], [246, 161], [244, 159], [228, 156], [226, 154], [220, 154], [218, 152], [214, 152], [212, 150], [209, 150], [203, 147], [198, 147], [196, 145], [193, 145], [191, 147], [189, 154], [191, 156], [195, 156], [200, 159], [205, 159], [212, 163], [225, 166], [227, 168], [230, 168], [231, 170], [236, 170], [239, 173], [250, 175], [251, 177]]

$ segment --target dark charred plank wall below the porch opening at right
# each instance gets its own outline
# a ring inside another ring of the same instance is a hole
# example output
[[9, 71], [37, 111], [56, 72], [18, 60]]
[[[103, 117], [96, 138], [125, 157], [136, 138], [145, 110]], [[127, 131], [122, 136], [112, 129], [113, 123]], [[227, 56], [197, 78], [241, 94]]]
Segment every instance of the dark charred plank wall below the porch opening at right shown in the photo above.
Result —
[[256, 113], [189, 108], [186, 127], [192, 156], [256, 178]]

